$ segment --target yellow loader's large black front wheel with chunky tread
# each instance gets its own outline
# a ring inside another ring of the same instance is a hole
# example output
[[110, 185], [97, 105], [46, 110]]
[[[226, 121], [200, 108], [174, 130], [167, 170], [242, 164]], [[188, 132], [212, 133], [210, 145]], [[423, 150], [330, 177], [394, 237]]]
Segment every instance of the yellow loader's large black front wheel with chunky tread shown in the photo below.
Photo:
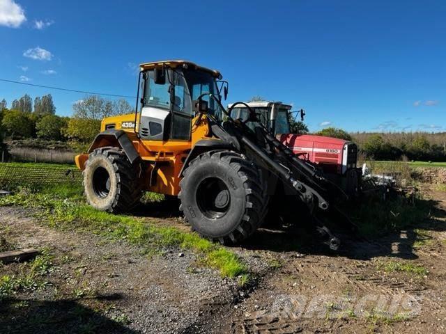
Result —
[[266, 205], [258, 168], [241, 154], [211, 151], [190, 162], [180, 181], [180, 210], [202, 237], [236, 244], [263, 219]]

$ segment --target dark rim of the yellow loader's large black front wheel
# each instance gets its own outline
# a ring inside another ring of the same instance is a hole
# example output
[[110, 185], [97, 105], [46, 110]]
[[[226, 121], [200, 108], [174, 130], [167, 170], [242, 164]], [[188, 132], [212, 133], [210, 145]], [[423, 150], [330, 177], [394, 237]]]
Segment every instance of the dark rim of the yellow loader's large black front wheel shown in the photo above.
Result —
[[208, 177], [197, 188], [197, 204], [201, 213], [208, 218], [222, 218], [229, 211], [231, 193], [222, 180]]

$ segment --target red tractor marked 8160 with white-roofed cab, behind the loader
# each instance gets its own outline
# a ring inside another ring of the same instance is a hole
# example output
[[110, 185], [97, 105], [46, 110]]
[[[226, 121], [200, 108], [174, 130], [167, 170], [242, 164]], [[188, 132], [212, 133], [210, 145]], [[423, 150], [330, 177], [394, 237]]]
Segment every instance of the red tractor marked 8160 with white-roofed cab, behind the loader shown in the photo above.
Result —
[[[247, 102], [259, 121], [300, 158], [310, 161], [323, 170], [348, 196], [360, 191], [362, 169], [357, 168], [357, 146], [344, 139], [316, 136], [313, 134], [292, 134], [290, 127], [291, 105], [282, 102]], [[229, 106], [231, 108], [232, 105]], [[234, 119], [247, 120], [247, 106], [237, 104], [232, 111]], [[303, 120], [304, 111], [299, 111]], [[247, 122], [249, 126], [249, 121]]]

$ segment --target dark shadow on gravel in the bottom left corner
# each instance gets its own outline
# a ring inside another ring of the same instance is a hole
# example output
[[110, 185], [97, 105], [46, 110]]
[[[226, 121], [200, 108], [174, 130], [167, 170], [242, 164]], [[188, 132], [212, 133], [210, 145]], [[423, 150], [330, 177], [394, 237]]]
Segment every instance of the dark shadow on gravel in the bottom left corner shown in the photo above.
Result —
[[[98, 296], [96, 299], [120, 296]], [[76, 300], [38, 301], [3, 299], [0, 301], [0, 332], [6, 333], [137, 333], [123, 319], [109, 319]]]

